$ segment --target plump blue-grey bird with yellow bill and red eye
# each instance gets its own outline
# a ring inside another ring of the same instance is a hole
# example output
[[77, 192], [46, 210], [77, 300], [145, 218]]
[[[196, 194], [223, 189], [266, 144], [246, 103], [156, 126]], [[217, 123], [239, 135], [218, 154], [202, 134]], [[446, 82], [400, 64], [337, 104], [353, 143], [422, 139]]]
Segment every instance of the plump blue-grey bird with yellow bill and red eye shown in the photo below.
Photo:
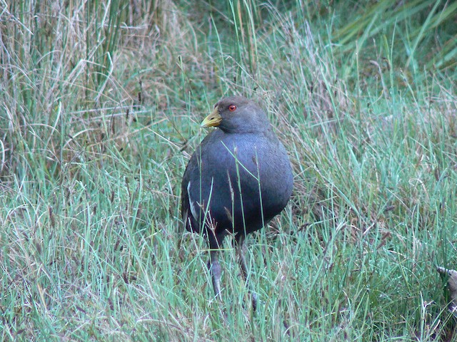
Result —
[[[189, 232], [206, 237], [214, 294], [221, 300], [218, 258], [224, 238], [233, 235], [248, 288], [246, 235], [286, 207], [293, 174], [286, 148], [255, 101], [243, 96], [222, 98], [201, 127], [216, 129], [201, 141], [184, 172], [181, 217]], [[255, 311], [256, 294], [251, 300]]]

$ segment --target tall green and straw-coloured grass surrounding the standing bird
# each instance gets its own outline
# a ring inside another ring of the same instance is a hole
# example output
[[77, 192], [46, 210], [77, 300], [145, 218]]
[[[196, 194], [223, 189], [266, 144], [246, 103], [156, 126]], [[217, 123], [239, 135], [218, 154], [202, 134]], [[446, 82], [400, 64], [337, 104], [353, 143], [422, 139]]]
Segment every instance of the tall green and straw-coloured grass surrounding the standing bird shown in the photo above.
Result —
[[[451, 341], [457, 3], [0, 3], [3, 341]], [[224, 304], [180, 182], [224, 95], [295, 188]], [[224, 313], [226, 319], [224, 319]]]

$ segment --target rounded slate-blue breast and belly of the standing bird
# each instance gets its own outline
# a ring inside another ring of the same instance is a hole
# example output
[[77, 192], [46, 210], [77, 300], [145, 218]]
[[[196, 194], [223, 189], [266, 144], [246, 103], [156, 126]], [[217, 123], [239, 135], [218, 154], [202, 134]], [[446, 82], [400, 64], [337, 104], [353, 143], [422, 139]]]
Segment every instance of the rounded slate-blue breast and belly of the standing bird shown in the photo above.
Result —
[[197, 157], [200, 170], [187, 189], [193, 214], [200, 207], [223, 226], [251, 222], [256, 230], [288, 202], [291, 167], [279, 142], [220, 140]]

